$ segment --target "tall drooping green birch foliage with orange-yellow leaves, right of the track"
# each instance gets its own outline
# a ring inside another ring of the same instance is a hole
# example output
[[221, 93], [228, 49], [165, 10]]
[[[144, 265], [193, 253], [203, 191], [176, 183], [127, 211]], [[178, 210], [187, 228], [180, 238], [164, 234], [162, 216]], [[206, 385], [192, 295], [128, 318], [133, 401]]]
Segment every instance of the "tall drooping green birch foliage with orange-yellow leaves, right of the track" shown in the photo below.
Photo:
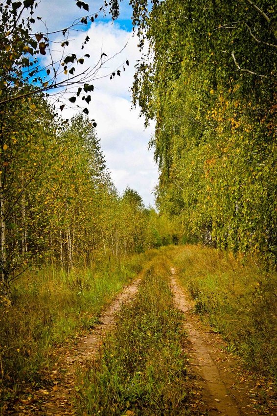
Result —
[[188, 236], [275, 262], [275, 2], [142, 3], [149, 54], [133, 97], [146, 123], [156, 119], [161, 211]]

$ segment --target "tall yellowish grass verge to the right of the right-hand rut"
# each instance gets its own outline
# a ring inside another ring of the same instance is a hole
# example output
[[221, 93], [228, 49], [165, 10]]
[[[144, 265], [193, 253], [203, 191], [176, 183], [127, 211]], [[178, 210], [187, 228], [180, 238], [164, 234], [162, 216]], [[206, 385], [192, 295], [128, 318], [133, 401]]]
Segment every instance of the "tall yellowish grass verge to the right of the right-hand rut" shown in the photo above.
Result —
[[263, 273], [250, 259], [193, 245], [178, 248], [174, 261], [195, 311], [250, 370], [277, 383], [277, 274]]

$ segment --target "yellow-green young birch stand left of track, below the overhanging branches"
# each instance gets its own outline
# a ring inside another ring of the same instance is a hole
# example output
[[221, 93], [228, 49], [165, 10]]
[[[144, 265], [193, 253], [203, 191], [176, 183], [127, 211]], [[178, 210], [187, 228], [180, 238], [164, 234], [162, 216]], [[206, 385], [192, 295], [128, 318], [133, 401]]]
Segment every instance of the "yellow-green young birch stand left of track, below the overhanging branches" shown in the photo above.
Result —
[[69, 272], [171, 242], [169, 222], [145, 208], [137, 191], [118, 194], [87, 116], [61, 125], [43, 96], [27, 99], [18, 111], [23, 126], [3, 134], [1, 150], [6, 296], [28, 268], [51, 264]]

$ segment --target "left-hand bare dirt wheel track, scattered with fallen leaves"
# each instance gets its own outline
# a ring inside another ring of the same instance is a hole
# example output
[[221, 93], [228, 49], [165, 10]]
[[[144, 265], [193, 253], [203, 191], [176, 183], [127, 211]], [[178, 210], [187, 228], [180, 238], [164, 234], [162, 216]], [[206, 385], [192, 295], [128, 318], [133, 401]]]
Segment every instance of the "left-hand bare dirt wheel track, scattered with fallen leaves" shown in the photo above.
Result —
[[28, 405], [28, 400], [21, 400], [16, 411], [12, 413], [13, 415], [64, 416], [75, 414], [72, 402], [76, 387], [76, 369], [82, 370], [86, 360], [99, 350], [102, 339], [113, 328], [116, 312], [120, 310], [122, 303], [134, 299], [139, 282], [140, 278], [123, 289], [102, 313], [99, 318], [100, 324], [95, 325], [89, 336], [84, 337], [71, 351], [64, 350], [64, 359], [60, 363], [60, 368], [53, 370], [54, 387], [40, 389], [37, 392], [35, 402], [42, 401], [40, 406], [35, 402]]

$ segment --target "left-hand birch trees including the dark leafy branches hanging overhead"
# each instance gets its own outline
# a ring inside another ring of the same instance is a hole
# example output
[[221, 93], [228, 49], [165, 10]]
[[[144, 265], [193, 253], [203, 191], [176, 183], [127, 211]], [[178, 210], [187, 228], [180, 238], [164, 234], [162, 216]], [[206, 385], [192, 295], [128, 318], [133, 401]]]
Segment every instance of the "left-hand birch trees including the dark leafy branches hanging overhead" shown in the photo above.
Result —
[[88, 109], [63, 120], [48, 102], [48, 92], [56, 91], [59, 99], [62, 87], [74, 87], [69, 103], [90, 103], [91, 81], [106, 55], [77, 76], [86, 56], [65, 48], [77, 24], [84, 31], [83, 49], [88, 22], [97, 13], [76, 2], [85, 16], [61, 30], [61, 59], [44, 67], [41, 55], [52, 56], [51, 34], [34, 33], [42, 19], [36, 6], [35, 0], [0, 1], [0, 291], [8, 298], [27, 269], [51, 264], [69, 272], [101, 257], [120, 261], [171, 242], [174, 233], [165, 217], [144, 207], [137, 191], [127, 187], [118, 194]]

